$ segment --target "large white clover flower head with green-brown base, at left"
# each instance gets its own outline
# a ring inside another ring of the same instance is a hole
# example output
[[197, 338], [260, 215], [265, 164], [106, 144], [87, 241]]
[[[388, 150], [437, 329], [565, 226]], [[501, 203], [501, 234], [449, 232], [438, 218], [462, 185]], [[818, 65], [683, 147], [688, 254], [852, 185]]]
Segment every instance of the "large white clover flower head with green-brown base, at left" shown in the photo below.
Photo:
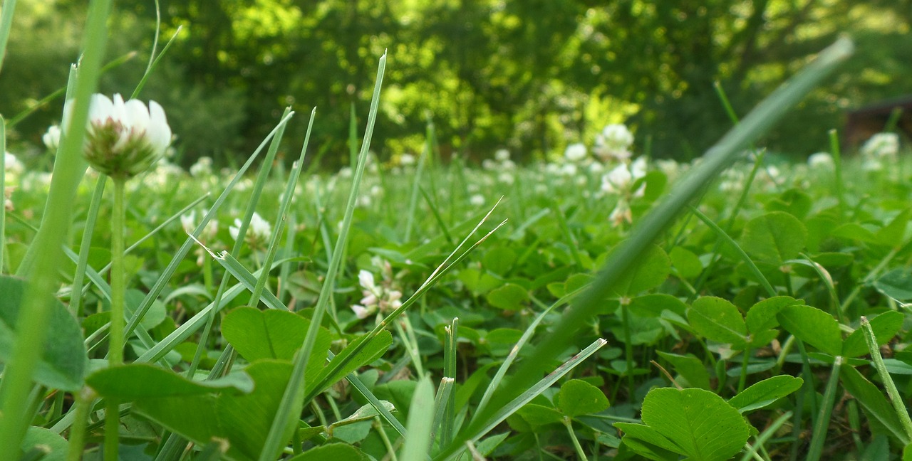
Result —
[[155, 101], [92, 95], [84, 154], [94, 169], [130, 178], [149, 169], [171, 144], [171, 127]]

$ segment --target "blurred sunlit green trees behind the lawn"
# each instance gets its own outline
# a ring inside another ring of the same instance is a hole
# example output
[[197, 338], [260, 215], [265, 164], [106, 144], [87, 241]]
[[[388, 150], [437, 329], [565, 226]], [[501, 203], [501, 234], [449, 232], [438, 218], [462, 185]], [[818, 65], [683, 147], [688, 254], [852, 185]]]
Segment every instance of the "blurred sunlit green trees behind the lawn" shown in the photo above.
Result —
[[[0, 74], [5, 118], [66, 84], [87, 5], [19, 0]], [[152, 0], [116, 3], [107, 58], [136, 56], [100, 91], [130, 95], [155, 23]], [[178, 26], [140, 98], [165, 108], [184, 165], [249, 155], [286, 106], [298, 112], [286, 146], [300, 146], [316, 106], [311, 146], [326, 168], [346, 164], [350, 114], [360, 137], [384, 50], [380, 159], [419, 152], [429, 119], [444, 157], [505, 148], [542, 159], [627, 123], [640, 152], [690, 159], [731, 128], [714, 82], [744, 115], [843, 34], [855, 57], [765, 147], [803, 159], [826, 149], [847, 111], [912, 94], [912, 0], [161, 0], [159, 50]], [[40, 152], [62, 106], [57, 97], [18, 122], [8, 149]]]

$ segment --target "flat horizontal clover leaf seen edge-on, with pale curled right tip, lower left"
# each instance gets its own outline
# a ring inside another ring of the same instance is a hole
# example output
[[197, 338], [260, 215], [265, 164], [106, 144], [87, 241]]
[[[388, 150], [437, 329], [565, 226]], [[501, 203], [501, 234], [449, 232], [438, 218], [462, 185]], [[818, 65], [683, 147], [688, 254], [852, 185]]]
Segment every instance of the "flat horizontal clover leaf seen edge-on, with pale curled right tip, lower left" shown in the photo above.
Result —
[[133, 401], [219, 391], [250, 393], [254, 382], [247, 374], [229, 374], [211, 381], [190, 381], [171, 370], [151, 364], [126, 364], [102, 368], [86, 378], [86, 384], [103, 397]]

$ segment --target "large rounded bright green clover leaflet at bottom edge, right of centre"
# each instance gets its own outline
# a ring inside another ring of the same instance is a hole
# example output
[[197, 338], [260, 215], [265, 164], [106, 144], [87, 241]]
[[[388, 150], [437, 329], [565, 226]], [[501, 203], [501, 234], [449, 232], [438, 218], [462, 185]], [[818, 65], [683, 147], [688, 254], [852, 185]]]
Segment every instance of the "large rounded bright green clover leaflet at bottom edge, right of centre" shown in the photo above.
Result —
[[738, 410], [703, 389], [653, 389], [643, 401], [642, 418], [681, 453], [700, 461], [731, 458], [750, 434]]

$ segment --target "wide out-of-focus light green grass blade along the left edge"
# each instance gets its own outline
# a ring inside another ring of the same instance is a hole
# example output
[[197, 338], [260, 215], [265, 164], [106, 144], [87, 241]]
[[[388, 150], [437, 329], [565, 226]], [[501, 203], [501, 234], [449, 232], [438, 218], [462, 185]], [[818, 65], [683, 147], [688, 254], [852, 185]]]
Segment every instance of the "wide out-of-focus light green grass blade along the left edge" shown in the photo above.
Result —
[[[9, 0], [7, 0], [9, 1]], [[6, 4], [8, 5], [8, 4]], [[54, 165], [47, 196], [47, 206], [35, 240], [26, 251], [26, 260], [20, 264], [20, 274], [27, 274], [29, 288], [25, 293], [16, 323], [18, 340], [4, 369], [0, 382], [0, 400], [4, 418], [0, 420], [0, 446], [20, 446], [26, 427], [32, 418], [27, 415], [27, 396], [32, 387], [32, 375], [38, 362], [47, 333], [47, 319], [61, 266], [63, 252], [60, 247], [69, 231], [72, 207], [79, 179], [86, 170], [82, 159], [82, 140], [88, 121], [90, 95], [98, 87], [98, 70], [104, 56], [108, 36], [107, 20], [110, 0], [94, 0], [88, 5], [84, 56], [76, 81], [76, 100], [69, 118], [69, 127], [60, 139], [60, 152]], [[8, 8], [12, 15], [12, 8]], [[4, 14], [7, 13], [7, 8]], [[8, 19], [10, 22], [12, 18]], [[7, 29], [8, 30], [8, 29]], [[29, 259], [30, 257], [30, 259]], [[14, 455], [13, 459], [15, 459]]]

